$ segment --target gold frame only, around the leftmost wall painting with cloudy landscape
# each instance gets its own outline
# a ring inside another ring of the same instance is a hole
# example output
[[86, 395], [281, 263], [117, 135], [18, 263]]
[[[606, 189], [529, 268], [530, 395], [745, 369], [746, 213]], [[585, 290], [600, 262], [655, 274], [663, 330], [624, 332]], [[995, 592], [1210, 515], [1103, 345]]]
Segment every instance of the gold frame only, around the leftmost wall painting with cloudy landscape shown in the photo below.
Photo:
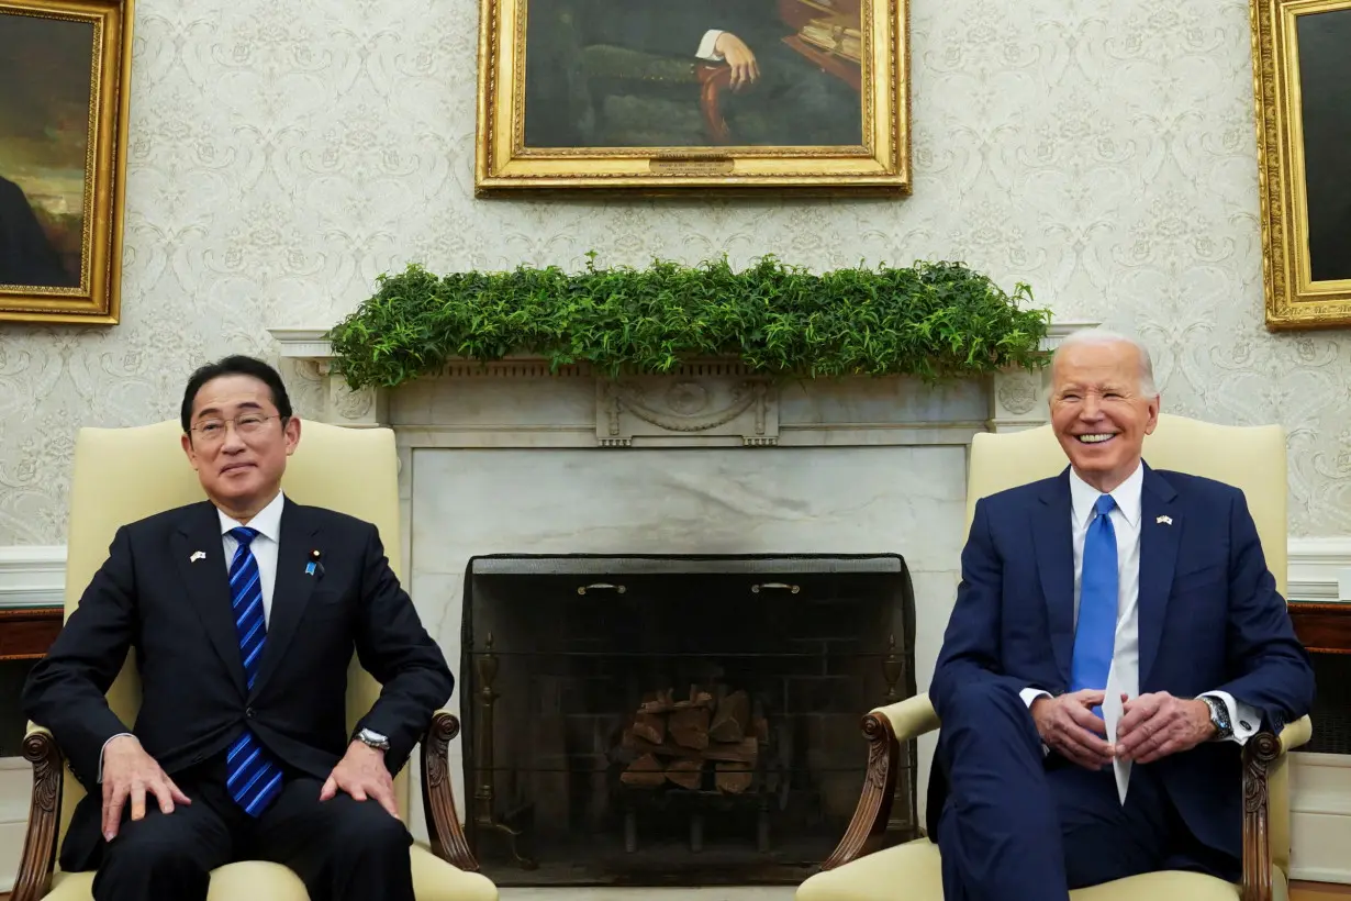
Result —
[[0, 14], [88, 22], [95, 31], [81, 284], [0, 285], [0, 321], [115, 326], [120, 320], [134, 1], [0, 0]]

